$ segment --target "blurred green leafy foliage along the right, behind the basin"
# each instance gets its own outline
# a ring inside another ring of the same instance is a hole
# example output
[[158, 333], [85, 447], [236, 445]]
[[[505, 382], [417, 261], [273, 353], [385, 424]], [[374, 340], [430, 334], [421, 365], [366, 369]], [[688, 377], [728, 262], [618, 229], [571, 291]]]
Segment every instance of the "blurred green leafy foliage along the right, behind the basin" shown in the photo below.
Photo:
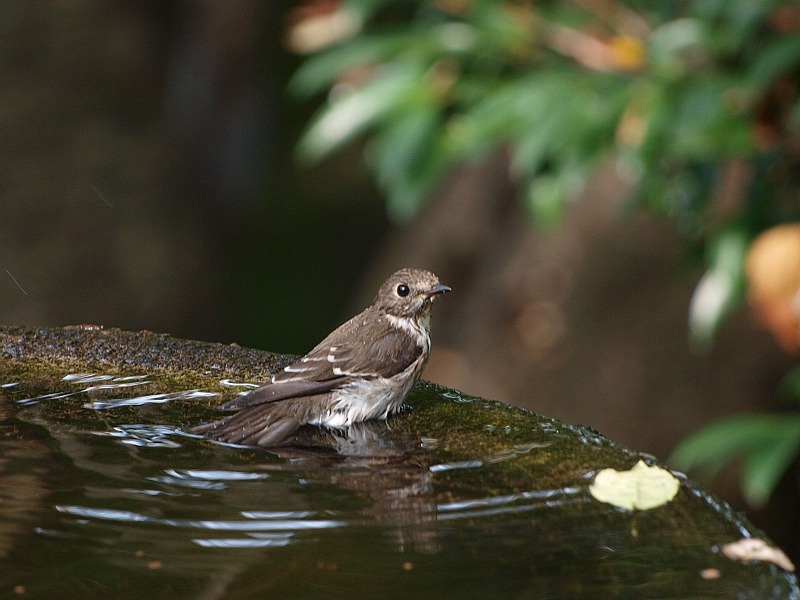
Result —
[[[754, 236], [800, 220], [797, 3], [317, 1], [288, 39], [309, 54], [292, 91], [327, 93], [300, 154], [365, 139], [396, 219], [417, 214], [455, 165], [502, 150], [532, 219], [556, 224], [612, 164], [631, 209], [671, 219], [704, 250], [689, 311], [700, 346], [744, 297]], [[746, 453], [752, 481], [777, 453], [748, 487], [760, 502], [797, 451], [789, 423], [735, 419], [677, 456], [708, 453], [716, 469]]]

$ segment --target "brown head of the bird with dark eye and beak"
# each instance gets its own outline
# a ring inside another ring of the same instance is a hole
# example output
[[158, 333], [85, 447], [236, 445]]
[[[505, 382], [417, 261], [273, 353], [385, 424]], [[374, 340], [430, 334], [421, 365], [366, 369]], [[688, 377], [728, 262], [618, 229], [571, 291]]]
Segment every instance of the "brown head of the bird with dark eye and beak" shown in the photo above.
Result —
[[430, 271], [401, 269], [383, 282], [374, 305], [395, 317], [417, 318], [430, 311], [434, 298], [449, 291]]

